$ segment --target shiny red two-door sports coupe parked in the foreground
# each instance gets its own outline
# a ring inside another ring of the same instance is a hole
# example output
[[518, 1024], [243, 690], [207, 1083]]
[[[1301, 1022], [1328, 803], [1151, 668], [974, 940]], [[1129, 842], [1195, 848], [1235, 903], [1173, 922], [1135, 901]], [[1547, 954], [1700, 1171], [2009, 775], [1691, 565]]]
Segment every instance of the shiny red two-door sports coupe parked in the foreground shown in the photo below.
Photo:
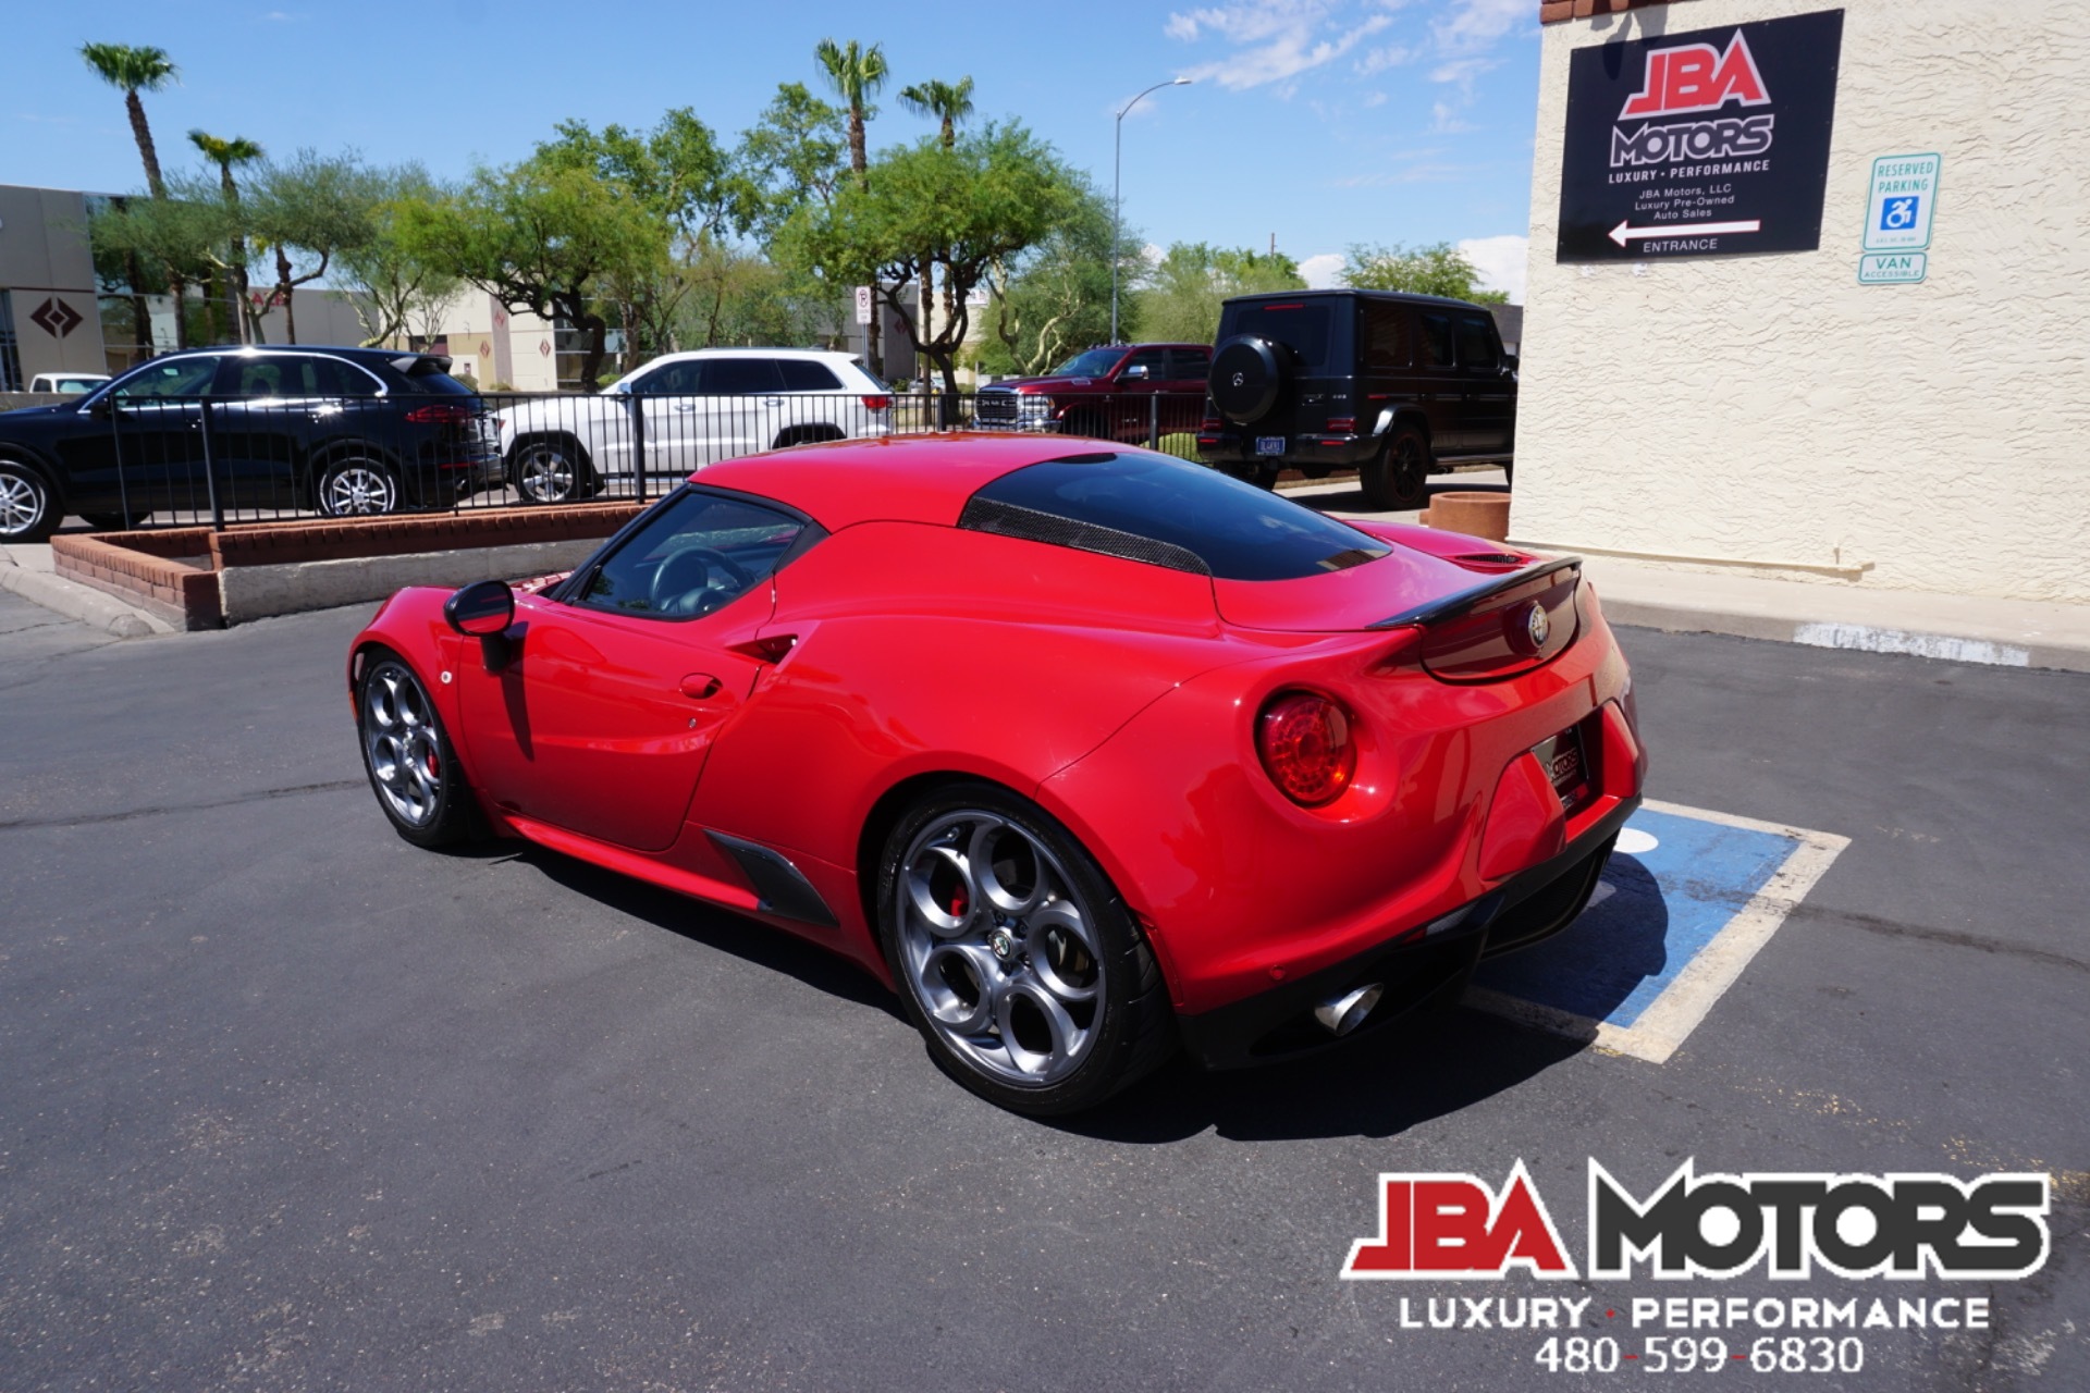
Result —
[[1586, 904], [1645, 756], [1578, 562], [1053, 436], [706, 468], [349, 654], [378, 806], [800, 934], [1012, 1109], [1455, 998]]

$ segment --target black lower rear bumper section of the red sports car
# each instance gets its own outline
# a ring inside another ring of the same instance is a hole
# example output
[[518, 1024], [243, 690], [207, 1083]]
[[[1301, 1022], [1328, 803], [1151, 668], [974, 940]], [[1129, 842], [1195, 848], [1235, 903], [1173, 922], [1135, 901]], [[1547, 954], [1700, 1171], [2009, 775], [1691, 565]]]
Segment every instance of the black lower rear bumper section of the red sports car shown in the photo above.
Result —
[[[1407, 929], [1296, 982], [1212, 1011], [1179, 1015], [1183, 1046], [1208, 1069], [1239, 1069], [1319, 1053], [1457, 1002], [1484, 957], [1526, 948], [1576, 921], [1611, 858], [1620, 827], [1639, 806], [1639, 796], [1622, 800], [1557, 856], [1519, 871], [1430, 925]], [[1317, 1005], [1373, 982], [1386, 988], [1384, 996], [1350, 1034], [1338, 1038], [1315, 1021]]]

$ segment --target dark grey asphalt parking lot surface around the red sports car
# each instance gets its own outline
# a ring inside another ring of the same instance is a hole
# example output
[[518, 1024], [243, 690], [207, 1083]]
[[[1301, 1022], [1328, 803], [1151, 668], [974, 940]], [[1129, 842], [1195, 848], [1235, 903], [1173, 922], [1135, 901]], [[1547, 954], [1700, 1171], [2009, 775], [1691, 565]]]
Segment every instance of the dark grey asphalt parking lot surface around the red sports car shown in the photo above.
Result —
[[[1728, 1380], [2090, 1387], [2086, 677], [1622, 631], [1653, 798], [1848, 837], [1662, 1063], [1465, 1009], [1045, 1126], [809, 946], [397, 840], [341, 681], [362, 618], [107, 641], [0, 595], [8, 1393], [1645, 1383], [1402, 1328], [1526, 1278], [1338, 1268], [1379, 1172], [1522, 1159], [1578, 1249], [1588, 1159], [1647, 1193], [1687, 1157], [2054, 1176], [2038, 1276], [1718, 1289], [1988, 1297], [1992, 1328]], [[1590, 1337], [1678, 1295], [1547, 1286]]]

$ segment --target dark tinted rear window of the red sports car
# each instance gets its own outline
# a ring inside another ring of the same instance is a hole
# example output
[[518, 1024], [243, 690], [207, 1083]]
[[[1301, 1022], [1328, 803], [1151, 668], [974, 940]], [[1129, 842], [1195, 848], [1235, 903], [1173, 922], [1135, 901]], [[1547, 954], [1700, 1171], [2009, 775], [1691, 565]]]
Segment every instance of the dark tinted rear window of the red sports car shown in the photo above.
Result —
[[1275, 493], [1145, 451], [1070, 455], [1003, 474], [972, 495], [957, 524], [1223, 581], [1296, 581], [1390, 551]]

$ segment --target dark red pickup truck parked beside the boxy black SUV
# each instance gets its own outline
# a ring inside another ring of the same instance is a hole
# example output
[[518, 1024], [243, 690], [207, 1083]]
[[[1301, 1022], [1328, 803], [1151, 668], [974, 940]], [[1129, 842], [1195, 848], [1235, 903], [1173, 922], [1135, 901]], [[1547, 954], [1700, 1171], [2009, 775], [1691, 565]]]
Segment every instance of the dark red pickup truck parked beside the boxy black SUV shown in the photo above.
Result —
[[1135, 343], [1076, 353], [1039, 378], [982, 386], [972, 407], [978, 430], [1058, 430], [1106, 441], [1193, 432], [1204, 420], [1212, 347]]

